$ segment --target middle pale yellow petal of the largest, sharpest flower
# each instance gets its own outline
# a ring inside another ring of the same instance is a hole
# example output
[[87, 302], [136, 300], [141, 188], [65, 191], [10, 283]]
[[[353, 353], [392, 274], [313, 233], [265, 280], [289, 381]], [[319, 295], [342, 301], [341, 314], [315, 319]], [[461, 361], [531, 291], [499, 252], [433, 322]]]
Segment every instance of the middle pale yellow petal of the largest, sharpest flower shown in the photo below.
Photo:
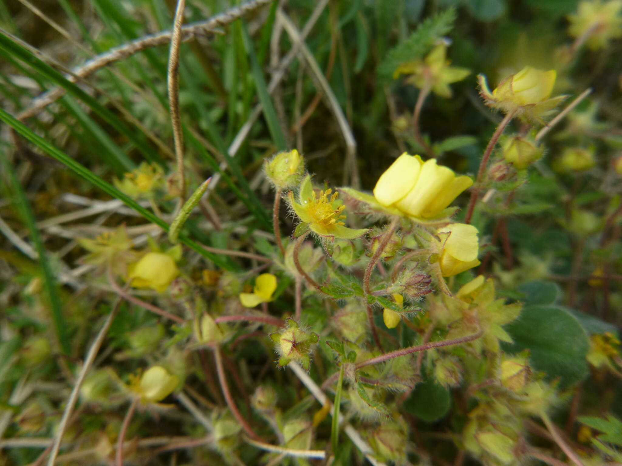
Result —
[[451, 185], [455, 177], [452, 170], [439, 167], [436, 159], [430, 158], [421, 167], [417, 184], [406, 194], [406, 197], [396, 203], [396, 207], [413, 217], [434, 217], [439, 211], [432, 211], [428, 206]]

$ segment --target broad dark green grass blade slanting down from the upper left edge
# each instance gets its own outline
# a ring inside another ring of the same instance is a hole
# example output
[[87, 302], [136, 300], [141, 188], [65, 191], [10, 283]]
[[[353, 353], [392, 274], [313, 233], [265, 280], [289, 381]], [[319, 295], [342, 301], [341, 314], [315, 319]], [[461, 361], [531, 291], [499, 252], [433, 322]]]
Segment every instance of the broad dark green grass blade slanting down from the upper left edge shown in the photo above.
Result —
[[108, 124], [110, 124], [114, 129], [131, 140], [131, 142], [136, 145], [147, 160], [164, 165], [162, 160], [157, 156], [156, 151], [149, 148], [144, 141], [137, 136], [135, 129], [129, 129], [123, 122], [121, 122], [121, 120], [119, 120], [118, 117], [113, 114], [113, 112], [106, 109], [106, 107], [100, 104], [97, 99], [93, 98], [78, 86], [65, 79], [65, 77], [52, 68], [52, 66], [35, 57], [35, 55], [33, 55], [29, 50], [26, 50], [26, 48], [19, 45], [19, 43], [14, 42], [14, 40], [7, 35], [0, 34], [0, 48], [4, 49], [7, 54], [19, 58], [22, 62], [32, 66], [32, 68], [40, 73], [41, 76], [44, 76], [56, 85], [61, 86], [68, 93], [90, 106], [96, 114], [108, 122]]

